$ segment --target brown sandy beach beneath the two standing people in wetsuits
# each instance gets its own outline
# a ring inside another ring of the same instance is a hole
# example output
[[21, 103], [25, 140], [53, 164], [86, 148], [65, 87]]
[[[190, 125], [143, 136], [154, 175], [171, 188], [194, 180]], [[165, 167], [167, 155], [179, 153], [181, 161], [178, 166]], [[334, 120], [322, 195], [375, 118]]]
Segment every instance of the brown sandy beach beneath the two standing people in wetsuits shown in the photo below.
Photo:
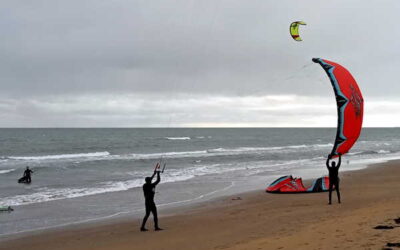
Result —
[[329, 206], [327, 193], [260, 189], [161, 214], [160, 232], [140, 232], [139, 220], [80, 225], [5, 239], [0, 249], [382, 249], [400, 242], [399, 176], [400, 161], [342, 172], [342, 204], [334, 196]]

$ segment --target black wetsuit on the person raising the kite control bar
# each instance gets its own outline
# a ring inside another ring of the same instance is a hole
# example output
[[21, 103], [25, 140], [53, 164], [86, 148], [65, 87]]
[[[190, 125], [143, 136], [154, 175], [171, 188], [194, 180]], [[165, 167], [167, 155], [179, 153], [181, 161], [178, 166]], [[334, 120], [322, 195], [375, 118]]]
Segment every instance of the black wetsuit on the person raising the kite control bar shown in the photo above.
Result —
[[[154, 175], [153, 175], [154, 177]], [[153, 179], [153, 177], [151, 179]], [[157, 172], [157, 180], [154, 183], [145, 183], [143, 185], [143, 194], [145, 198], [146, 205], [146, 215], [143, 218], [141, 229], [145, 228], [146, 221], [150, 216], [150, 212], [153, 214], [154, 218], [154, 228], [158, 229], [158, 217], [157, 217], [157, 207], [154, 203], [154, 194], [156, 192], [156, 185], [160, 183], [160, 172]]]

